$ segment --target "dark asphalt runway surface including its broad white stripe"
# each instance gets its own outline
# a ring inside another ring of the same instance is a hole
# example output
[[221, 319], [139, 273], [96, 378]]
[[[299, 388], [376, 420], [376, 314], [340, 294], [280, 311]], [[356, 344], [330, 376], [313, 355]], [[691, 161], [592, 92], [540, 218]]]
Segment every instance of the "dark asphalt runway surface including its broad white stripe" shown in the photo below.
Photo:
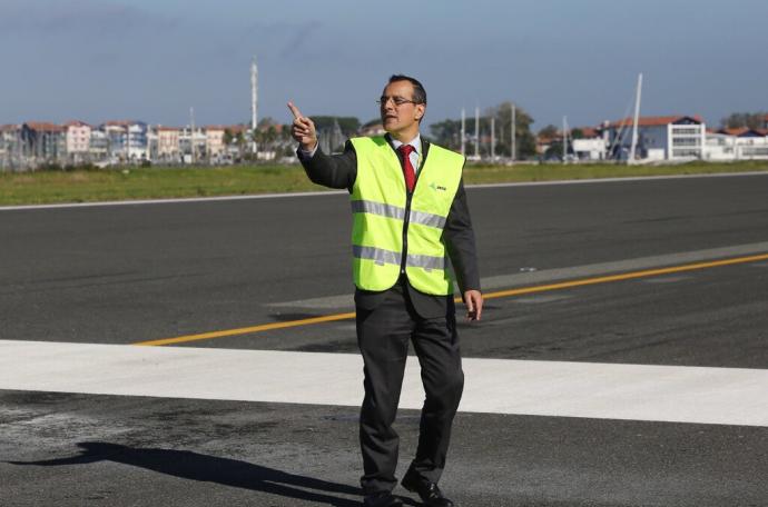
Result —
[[[461, 324], [473, 409], [446, 494], [768, 505], [767, 195], [764, 175], [469, 189], [498, 297]], [[270, 328], [352, 310], [349, 226], [339, 193], [0, 210], [0, 505], [358, 505], [353, 321]], [[131, 346], [164, 338], [187, 362]], [[291, 359], [249, 389], [248, 360], [206, 362], [226, 350]], [[326, 358], [304, 367], [318, 394], [293, 400], [279, 372], [306, 358]], [[502, 377], [514, 396], [483, 397]], [[398, 416], [403, 470], [417, 415]]]

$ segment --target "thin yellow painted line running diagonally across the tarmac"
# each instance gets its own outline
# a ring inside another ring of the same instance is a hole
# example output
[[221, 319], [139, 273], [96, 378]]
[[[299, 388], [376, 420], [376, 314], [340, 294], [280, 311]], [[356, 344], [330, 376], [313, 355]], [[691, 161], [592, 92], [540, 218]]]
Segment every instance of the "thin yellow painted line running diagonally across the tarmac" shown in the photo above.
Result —
[[[671, 266], [668, 268], [646, 269], [642, 271], [631, 271], [631, 272], [624, 272], [624, 274], [620, 274], [620, 275], [610, 275], [610, 276], [605, 276], [605, 277], [584, 278], [582, 280], [570, 280], [570, 281], [563, 281], [560, 284], [549, 284], [549, 285], [534, 286], [534, 287], [522, 287], [520, 289], [499, 290], [495, 292], [484, 294], [483, 299], [508, 298], [511, 296], [521, 296], [524, 294], [544, 292], [548, 290], [569, 289], [572, 287], [582, 287], [582, 286], [589, 286], [589, 285], [597, 285], [597, 284], [608, 284], [611, 281], [621, 281], [621, 280], [631, 280], [631, 279], [636, 279], [636, 278], [656, 277], [659, 275], [669, 275], [669, 274], [673, 274], [673, 272], [693, 271], [697, 269], [717, 268], [720, 266], [732, 266], [732, 265], [738, 265], [738, 264], [756, 262], [758, 260], [768, 260], [768, 254], [761, 254], [758, 256], [748, 256], [748, 257], [735, 257], [731, 259], [713, 260], [710, 262], [697, 262], [697, 264], [682, 265], [682, 266]], [[461, 302], [461, 298], [456, 298], [455, 301]], [[250, 335], [254, 332], [270, 331], [274, 329], [285, 329], [285, 328], [292, 328], [292, 327], [298, 327], [298, 326], [311, 326], [313, 324], [333, 322], [336, 320], [347, 320], [347, 319], [354, 319], [354, 318], [355, 318], [355, 312], [352, 311], [348, 314], [325, 315], [322, 317], [313, 317], [309, 319], [288, 320], [286, 322], [273, 322], [273, 324], [263, 324], [260, 326], [250, 326], [250, 327], [237, 328], [237, 329], [226, 329], [224, 331], [203, 332], [200, 335], [187, 335], [187, 336], [179, 336], [176, 338], [163, 338], [159, 340], [138, 341], [134, 345], [159, 346], [159, 345], [184, 344], [184, 342], [188, 342], [188, 341], [208, 340], [208, 339], [213, 339], [213, 338], [224, 338], [227, 336]]]

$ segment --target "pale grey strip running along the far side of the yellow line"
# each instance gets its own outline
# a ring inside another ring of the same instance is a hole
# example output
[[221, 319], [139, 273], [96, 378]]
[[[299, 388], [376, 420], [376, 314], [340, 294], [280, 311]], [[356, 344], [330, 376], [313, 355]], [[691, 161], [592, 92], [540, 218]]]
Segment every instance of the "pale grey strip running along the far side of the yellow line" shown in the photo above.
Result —
[[[710, 248], [707, 250], [682, 251], [662, 256], [639, 257], [636, 259], [599, 262], [568, 268], [543, 269], [541, 271], [525, 271], [512, 275], [500, 275], [481, 280], [483, 291], [526, 287], [555, 280], [590, 278], [617, 272], [638, 271], [650, 268], [686, 265], [706, 260], [723, 259], [728, 257], [748, 256], [768, 252], [768, 241], [735, 245], [731, 247]], [[354, 298], [349, 295], [307, 298], [295, 301], [273, 302], [274, 308], [307, 308], [318, 310], [347, 309], [354, 307]]]

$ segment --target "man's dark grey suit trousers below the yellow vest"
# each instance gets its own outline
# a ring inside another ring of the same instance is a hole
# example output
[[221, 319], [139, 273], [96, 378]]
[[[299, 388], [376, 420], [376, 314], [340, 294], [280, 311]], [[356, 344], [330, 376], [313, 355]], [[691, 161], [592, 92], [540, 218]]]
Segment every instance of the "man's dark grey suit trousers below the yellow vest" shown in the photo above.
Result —
[[411, 469], [437, 483], [445, 467], [451, 425], [464, 387], [453, 302], [443, 317], [421, 318], [398, 284], [374, 309], [357, 308], [357, 344], [365, 364], [360, 441], [365, 471], [361, 485], [366, 495], [392, 490], [397, 484], [398, 437], [392, 424], [410, 341], [426, 394]]

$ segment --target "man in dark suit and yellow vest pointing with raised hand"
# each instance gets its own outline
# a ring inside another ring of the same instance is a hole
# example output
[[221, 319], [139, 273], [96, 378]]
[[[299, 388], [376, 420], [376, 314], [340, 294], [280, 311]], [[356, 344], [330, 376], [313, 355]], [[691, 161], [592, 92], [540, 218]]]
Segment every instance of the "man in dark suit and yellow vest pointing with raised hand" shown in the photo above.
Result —
[[357, 342], [365, 365], [360, 419], [364, 505], [403, 505], [392, 495], [398, 445], [392, 424], [413, 341], [426, 399], [416, 456], [402, 485], [427, 507], [452, 507], [437, 488], [464, 385], [449, 257], [467, 318], [480, 320], [483, 307], [464, 158], [421, 139], [426, 92], [407, 76], [392, 76], [382, 93], [387, 135], [351, 139], [342, 155], [323, 153], [312, 120], [292, 102], [288, 108], [309, 179], [351, 193]]

